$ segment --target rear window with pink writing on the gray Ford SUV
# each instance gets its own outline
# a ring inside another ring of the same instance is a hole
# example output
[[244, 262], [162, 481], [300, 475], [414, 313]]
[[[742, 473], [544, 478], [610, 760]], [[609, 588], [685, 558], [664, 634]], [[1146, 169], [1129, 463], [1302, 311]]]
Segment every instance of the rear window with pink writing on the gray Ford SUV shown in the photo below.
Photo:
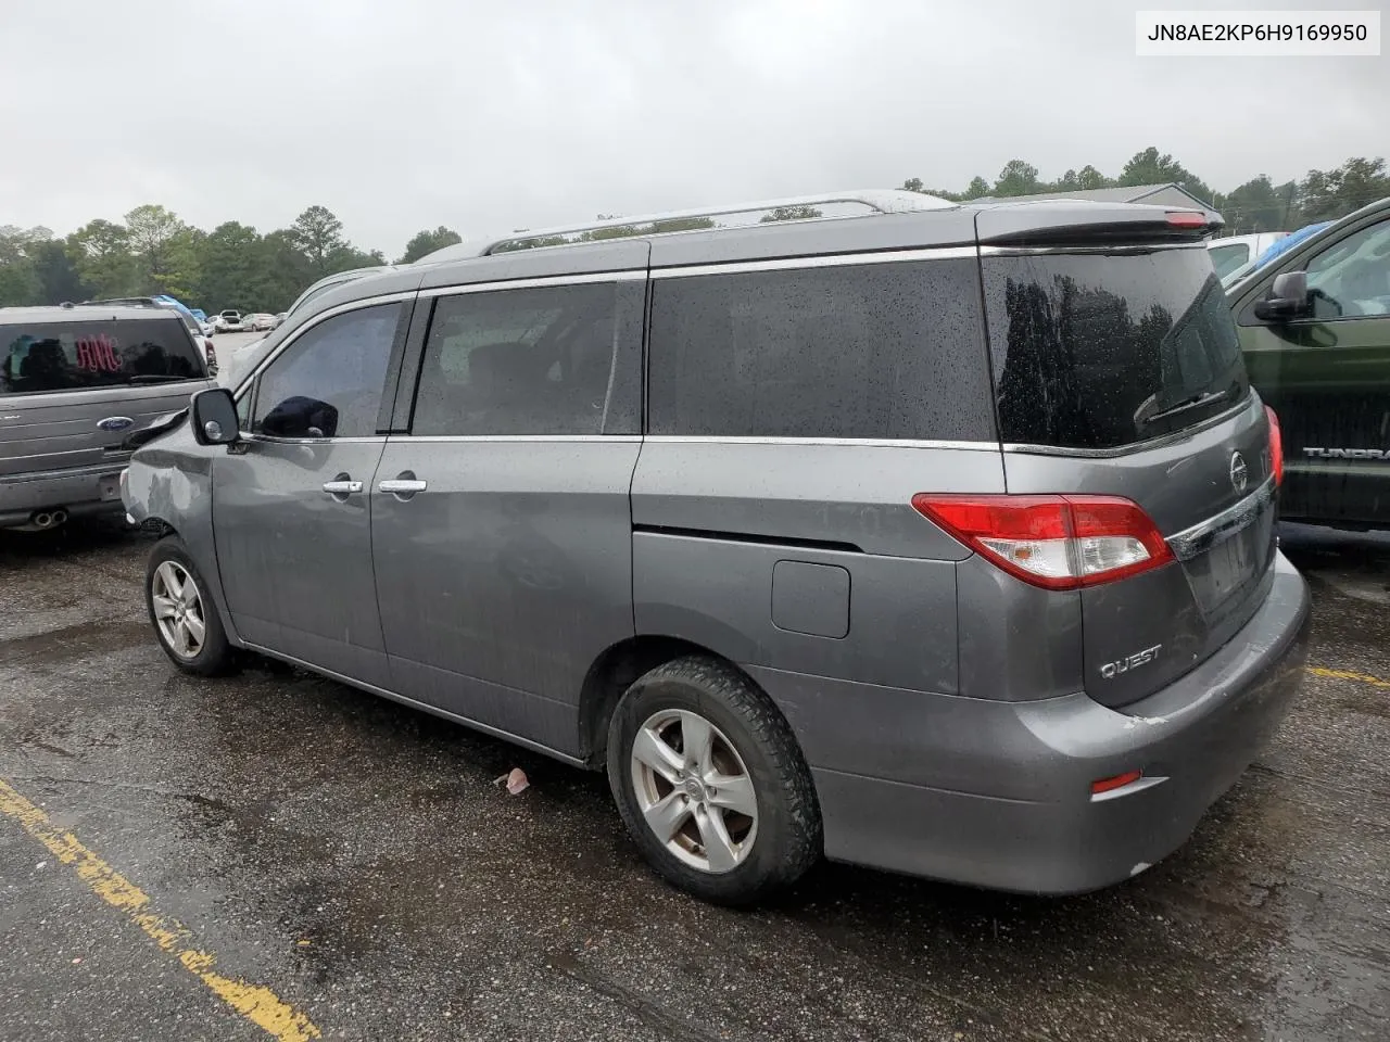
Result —
[[0, 395], [202, 379], [177, 318], [0, 324]]

